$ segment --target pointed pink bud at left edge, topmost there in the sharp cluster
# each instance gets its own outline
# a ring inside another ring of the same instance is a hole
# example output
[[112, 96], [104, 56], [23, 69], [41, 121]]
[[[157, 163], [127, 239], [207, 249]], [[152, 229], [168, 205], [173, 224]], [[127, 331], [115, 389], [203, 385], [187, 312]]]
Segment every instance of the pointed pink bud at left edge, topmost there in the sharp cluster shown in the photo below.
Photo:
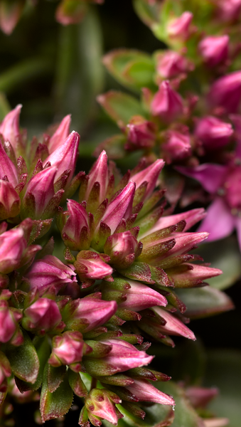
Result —
[[14, 149], [14, 152], [17, 152], [18, 139], [20, 137], [19, 130], [19, 116], [21, 112], [22, 105], [19, 104], [11, 110], [1, 122], [0, 125], [0, 134], [3, 135], [4, 141], [9, 141], [11, 146]]

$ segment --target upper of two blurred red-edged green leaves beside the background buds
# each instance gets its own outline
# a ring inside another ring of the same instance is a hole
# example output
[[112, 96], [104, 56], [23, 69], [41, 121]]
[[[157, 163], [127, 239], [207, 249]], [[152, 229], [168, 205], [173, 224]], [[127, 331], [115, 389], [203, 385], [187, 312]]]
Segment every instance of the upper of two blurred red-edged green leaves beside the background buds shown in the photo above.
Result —
[[147, 53], [117, 49], [103, 59], [107, 70], [119, 83], [134, 90], [154, 86], [154, 60]]

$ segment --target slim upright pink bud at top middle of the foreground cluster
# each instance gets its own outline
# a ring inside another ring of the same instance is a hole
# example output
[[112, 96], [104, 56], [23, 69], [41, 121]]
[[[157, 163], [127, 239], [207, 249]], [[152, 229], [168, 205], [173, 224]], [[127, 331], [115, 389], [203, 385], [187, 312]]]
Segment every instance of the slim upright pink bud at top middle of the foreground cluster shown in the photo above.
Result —
[[107, 192], [107, 186], [109, 181], [108, 176], [108, 165], [107, 165], [107, 154], [105, 150], [102, 151], [98, 157], [95, 164], [92, 166], [90, 173], [88, 174], [89, 180], [87, 183], [87, 190], [85, 193], [85, 200], [87, 201], [90, 196], [90, 191], [92, 190], [95, 183], [100, 184], [100, 197], [99, 203], [105, 199], [105, 194]]

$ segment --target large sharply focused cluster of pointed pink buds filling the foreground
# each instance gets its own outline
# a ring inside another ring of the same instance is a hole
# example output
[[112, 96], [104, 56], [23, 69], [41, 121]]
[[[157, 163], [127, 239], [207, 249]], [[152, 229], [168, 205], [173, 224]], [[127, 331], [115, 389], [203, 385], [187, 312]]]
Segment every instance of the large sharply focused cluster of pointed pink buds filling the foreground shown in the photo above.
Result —
[[[0, 128], [1, 423], [9, 425], [11, 399], [40, 399], [44, 422], [64, 416], [75, 395], [83, 427], [123, 417], [138, 423], [149, 404], [169, 426], [170, 394], [184, 399], [183, 391], [153, 385], [170, 377], [148, 366], [149, 341], [173, 347], [173, 335], [195, 340], [187, 308], [191, 317], [232, 308], [208, 286], [198, 309], [197, 301], [185, 305], [193, 288], [221, 273], [189, 253], [208, 237], [190, 231], [205, 212], [170, 215], [159, 188], [162, 159], [142, 160], [121, 176], [103, 151], [89, 174], [75, 175], [80, 136], [70, 133], [70, 116], [53, 135], [27, 144], [20, 111], [9, 112]], [[78, 187], [77, 200], [70, 199]], [[53, 255], [53, 220], [64, 263]], [[189, 388], [186, 396], [199, 407], [214, 394]], [[226, 423], [188, 411], [199, 426]]]

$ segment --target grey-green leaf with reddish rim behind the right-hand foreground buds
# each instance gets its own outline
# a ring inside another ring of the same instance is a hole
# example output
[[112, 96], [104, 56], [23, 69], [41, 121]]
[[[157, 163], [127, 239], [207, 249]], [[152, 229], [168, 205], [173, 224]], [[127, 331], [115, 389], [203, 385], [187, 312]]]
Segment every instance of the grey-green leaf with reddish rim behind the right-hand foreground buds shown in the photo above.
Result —
[[199, 319], [210, 315], [217, 315], [232, 310], [234, 305], [225, 292], [205, 286], [204, 288], [176, 289], [178, 297], [187, 307], [185, 315], [192, 319]]

